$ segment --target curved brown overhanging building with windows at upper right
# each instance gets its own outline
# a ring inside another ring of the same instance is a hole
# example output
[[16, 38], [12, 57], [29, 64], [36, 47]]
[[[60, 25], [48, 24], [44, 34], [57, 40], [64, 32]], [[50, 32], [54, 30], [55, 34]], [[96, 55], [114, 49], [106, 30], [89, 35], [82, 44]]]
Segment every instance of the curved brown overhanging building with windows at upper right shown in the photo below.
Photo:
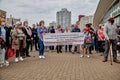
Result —
[[120, 24], [120, 0], [100, 0], [94, 15], [94, 25], [98, 28], [110, 17], [115, 18], [115, 24]]

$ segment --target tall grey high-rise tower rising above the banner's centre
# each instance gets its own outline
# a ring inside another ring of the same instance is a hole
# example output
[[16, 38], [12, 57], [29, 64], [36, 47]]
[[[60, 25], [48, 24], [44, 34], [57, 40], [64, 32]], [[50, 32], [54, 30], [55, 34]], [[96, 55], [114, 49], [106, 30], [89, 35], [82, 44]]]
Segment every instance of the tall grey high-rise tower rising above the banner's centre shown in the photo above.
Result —
[[71, 11], [68, 11], [66, 8], [62, 8], [61, 11], [58, 11], [56, 14], [57, 25], [61, 25], [63, 29], [65, 27], [70, 27], [71, 25]]

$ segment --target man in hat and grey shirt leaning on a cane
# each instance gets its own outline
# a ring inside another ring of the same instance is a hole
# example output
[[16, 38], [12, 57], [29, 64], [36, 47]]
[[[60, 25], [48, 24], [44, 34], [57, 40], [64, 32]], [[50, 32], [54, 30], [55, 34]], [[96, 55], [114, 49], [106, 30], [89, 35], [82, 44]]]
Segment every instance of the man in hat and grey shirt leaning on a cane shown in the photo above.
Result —
[[[105, 52], [103, 62], [107, 62], [109, 54], [109, 43], [112, 45], [113, 62], [120, 63], [117, 60], [117, 26], [114, 24], [114, 18], [108, 19], [108, 22], [104, 26], [105, 35]], [[111, 55], [111, 54], [110, 54]]]

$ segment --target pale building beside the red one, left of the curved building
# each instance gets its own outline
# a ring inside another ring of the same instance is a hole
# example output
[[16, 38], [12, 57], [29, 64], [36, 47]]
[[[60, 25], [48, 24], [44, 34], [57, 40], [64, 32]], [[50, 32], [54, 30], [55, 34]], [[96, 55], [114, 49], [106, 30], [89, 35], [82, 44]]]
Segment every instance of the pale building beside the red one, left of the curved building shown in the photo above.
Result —
[[85, 25], [88, 24], [88, 23], [93, 23], [93, 16], [92, 15], [82, 17], [81, 20], [80, 20], [80, 23], [79, 23], [79, 28], [81, 30], [83, 30]]

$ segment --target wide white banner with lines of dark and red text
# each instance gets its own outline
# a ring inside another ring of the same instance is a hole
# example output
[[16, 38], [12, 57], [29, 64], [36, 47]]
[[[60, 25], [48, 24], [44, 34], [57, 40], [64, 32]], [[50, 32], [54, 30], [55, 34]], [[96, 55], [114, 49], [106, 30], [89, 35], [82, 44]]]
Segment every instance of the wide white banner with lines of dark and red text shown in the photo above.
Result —
[[73, 45], [83, 44], [83, 33], [46, 33], [43, 36], [44, 44], [48, 45]]

